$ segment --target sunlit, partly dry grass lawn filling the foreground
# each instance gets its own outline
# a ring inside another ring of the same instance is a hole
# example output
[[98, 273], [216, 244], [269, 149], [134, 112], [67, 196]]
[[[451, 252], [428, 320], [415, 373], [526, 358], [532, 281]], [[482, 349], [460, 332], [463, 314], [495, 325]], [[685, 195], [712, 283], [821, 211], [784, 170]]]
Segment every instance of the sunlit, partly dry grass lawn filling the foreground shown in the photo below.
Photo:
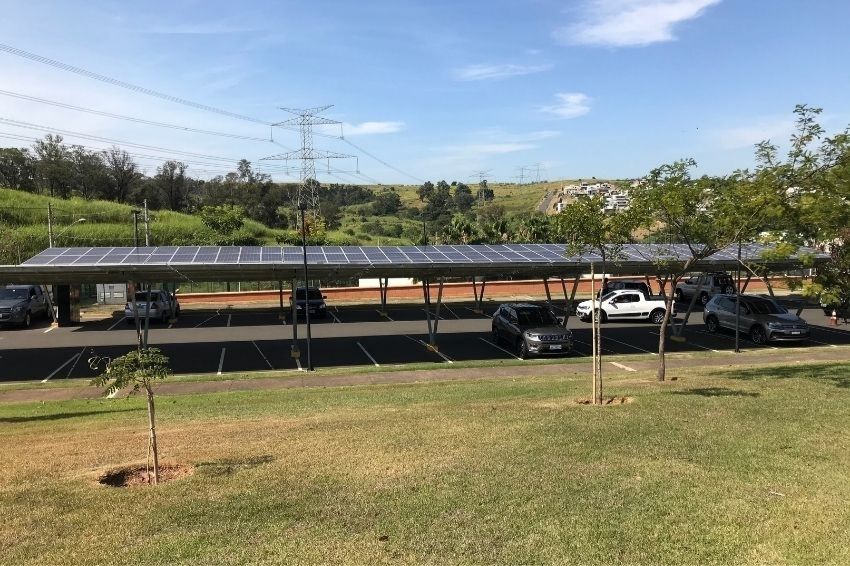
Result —
[[850, 365], [0, 406], [2, 563], [850, 563]]

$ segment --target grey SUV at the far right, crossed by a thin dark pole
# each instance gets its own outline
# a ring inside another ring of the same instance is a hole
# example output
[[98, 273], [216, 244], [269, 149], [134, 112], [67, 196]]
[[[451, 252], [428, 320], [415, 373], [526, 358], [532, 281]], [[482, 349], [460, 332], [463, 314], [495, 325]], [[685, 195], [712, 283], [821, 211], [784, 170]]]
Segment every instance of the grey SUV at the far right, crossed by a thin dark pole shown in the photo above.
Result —
[[[735, 330], [736, 295], [715, 295], [705, 305], [703, 322], [709, 332]], [[741, 295], [738, 329], [756, 344], [809, 338], [808, 323], [768, 297]]]

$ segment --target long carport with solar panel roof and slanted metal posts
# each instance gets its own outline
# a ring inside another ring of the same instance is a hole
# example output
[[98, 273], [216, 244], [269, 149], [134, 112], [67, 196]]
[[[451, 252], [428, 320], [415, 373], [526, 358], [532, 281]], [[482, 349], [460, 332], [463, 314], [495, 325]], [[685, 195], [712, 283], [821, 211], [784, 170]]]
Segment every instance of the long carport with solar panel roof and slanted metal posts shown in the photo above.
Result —
[[[558, 280], [567, 313], [581, 276], [591, 265], [600, 265], [599, 253], [568, 255], [566, 244], [500, 244], [435, 246], [308, 246], [306, 263], [311, 279], [378, 278], [381, 310], [386, 309], [389, 277], [408, 277], [422, 282], [428, 346], [437, 348], [443, 283], [446, 279], [471, 279], [475, 306], [480, 310], [486, 281], [539, 278], [551, 303], [550, 280]], [[799, 249], [777, 259], [771, 246], [747, 244], [740, 248], [741, 261], [764, 271], [779, 272], [815, 266], [829, 256], [813, 249]], [[283, 281], [303, 276], [301, 247], [259, 246], [161, 246], [49, 248], [17, 266], [0, 266], [0, 281], [57, 285], [60, 312], [70, 304], [70, 286], [117, 281], [160, 283], [173, 281]], [[658, 277], [681, 269], [691, 257], [684, 244], [627, 244], [614, 257], [608, 253], [606, 271], [612, 275]], [[693, 265], [694, 271], [734, 270], [739, 267], [738, 246], [730, 246]], [[568, 291], [567, 280], [571, 280]], [[436, 298], [432, 287], [436, 283]], [[433, 307], [433, 312], [432, 312]], [[293, 319], [294, 301], [293, 301]], [[566, 324], [566, 321], [565, 321]], [[293, 339], [297, 339], [293, 325]]]

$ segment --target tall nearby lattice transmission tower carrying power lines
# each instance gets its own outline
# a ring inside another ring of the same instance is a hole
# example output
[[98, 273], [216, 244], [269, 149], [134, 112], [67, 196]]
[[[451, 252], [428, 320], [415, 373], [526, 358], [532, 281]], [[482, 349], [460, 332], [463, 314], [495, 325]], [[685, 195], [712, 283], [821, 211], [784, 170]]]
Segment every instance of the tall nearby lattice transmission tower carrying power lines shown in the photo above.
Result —
[[[279, 153], [264, 157], [262, 160], [278, 160], [289, 161], [290, 159], [301, 160], [301, 182], [298, 185], [298, 191], [295, 194], [295, 208], [297, 210], [305, 209], [310, 212], [315, 218], [319, 214], [319, 183], [316, 180], [316, 161], [327, 160], [328, 171], [330, 171], [331, 159], [347, 159], [354, 157], [344, 153], [336, 153], [333, 151], [325, 151], [323, 149], [313, 148], [313, 126], [325, 126], [331, 124], [339, 124], [336, 120], [319, 116], [333, 104], [327, 106], [317, 106], [315, 108], [281, 108], [294, 117], [283, 122], [273, 124], [283, 128], [295, 128], [301, 132], [301, 149]], [[261, 161], [262, 161], [261, 160]]]

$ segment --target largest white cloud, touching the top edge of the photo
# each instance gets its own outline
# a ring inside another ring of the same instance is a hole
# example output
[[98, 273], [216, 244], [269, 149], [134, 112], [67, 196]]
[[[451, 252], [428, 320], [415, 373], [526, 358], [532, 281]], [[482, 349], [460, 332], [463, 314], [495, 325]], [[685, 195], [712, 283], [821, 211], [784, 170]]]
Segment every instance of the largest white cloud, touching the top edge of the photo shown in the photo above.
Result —
[[676, 24], [700, 17], [721, 0], [587, 0], [579, 20], [555, 30], [561, 43], [612, 47], [673, 41]]

